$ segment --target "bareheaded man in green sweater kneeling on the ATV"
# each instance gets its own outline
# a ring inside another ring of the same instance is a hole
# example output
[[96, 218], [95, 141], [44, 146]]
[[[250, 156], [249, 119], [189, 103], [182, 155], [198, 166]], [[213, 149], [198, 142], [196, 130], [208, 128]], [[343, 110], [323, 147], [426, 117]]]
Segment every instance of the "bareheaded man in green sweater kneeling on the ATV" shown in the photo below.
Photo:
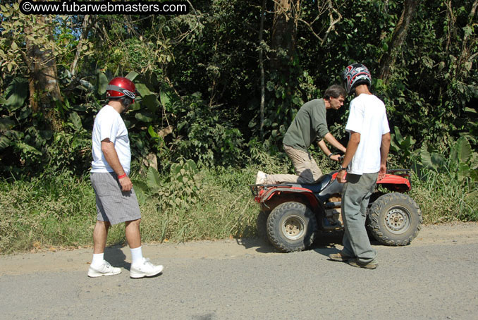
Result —
[[339, 155], [330, 152], [324, 140], [345, 152], [345, 147], [336, 140], [327, 128], [326, 111], [338, 110], [343, 106], [345, 90], [341, 85], [331, 85], [324, 93], [324, 99], [314, 99], [300, 107], [283, 138], [283, 149], [292, 160], [295, 175], [268, 175], [257, 173], [256, 184], [263, 183], [314, 183], [322, 176], [322, 171], [307, 150], [317, 140], [329, 159], [338, 161]]

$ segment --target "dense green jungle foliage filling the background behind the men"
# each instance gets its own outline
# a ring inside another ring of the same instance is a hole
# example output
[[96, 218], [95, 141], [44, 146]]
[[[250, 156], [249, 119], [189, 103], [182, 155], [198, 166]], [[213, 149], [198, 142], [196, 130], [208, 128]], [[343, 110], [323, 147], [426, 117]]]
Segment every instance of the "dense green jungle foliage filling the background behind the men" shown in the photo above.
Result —
[[[391, 163], [423, 179], [424, 168], [456, 171], [476, 195], [477, 6], [200, 0], [182, 16], [25, 16], [2, 1], [0, 176], [87, 173], [94, 115], [116, 75], [142, 94], [125, 114], [135, 169], [261, 165], [281, 154], [300, 106], [361, 62], [386, 102]], [[345, 109], [328, 115], [343, 144]]]

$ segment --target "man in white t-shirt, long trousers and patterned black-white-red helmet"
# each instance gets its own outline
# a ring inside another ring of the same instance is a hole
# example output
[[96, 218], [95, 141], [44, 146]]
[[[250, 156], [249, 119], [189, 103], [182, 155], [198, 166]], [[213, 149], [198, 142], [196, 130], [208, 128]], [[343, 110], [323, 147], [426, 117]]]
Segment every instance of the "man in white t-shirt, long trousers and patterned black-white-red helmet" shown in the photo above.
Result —
[[390, 147], [390, 129], [384, 102], [370, 92], [372, 77], [367, 67], [354, 63], [343, 72], [345, 89], [355, 94], [345, 130], [350, 134], [342, 167], [337, 175], [345, 183], [342, 194], [342, 217], [345, 227], [343, 250], [329, 257], [347, 261], [352, 266], [375, 269], [376, 250], [370, 245], [365, 228], [367, 206], [377, 178], [386, 173]]

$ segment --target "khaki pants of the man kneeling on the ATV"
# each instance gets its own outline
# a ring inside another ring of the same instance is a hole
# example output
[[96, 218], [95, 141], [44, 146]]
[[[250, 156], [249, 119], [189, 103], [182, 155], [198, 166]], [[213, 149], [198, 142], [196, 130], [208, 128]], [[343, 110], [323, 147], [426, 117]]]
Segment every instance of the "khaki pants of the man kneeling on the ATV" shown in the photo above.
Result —
[[267, 175], [266, 183], [314, 183], [322, 176], [322, 171], [309, 152], [303, 152], [283, 144], [284, 151], [292, 160], [295, 168], [293, 174], [272, 174]]

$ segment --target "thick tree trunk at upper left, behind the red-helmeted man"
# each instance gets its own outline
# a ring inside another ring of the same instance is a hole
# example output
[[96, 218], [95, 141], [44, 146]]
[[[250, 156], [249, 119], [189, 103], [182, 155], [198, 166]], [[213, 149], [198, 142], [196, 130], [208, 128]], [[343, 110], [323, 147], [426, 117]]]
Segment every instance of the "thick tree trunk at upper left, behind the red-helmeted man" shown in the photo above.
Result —
[[[49, 39], [52, 30], [45, 16], [35, 16], [34, 19], [32, 25], [25, 27], [25, 35], [27, 36], [25, 59], [27, 59], [26, 63], [30, 70], [30, 107], [34, 112], [44, 111], [50, 128], [60, 130], [62, 124], [54, 106], [55, 101], [62, 101], [63, 99], [58, 82], [54, 48], [49, 46], [47, 41], [44, 41], [45, 45], [42, 47], [35, 44], [35, 39], [41, 37]], [[35, 34], [36, 32], [42, 32], [42, 34]]]

